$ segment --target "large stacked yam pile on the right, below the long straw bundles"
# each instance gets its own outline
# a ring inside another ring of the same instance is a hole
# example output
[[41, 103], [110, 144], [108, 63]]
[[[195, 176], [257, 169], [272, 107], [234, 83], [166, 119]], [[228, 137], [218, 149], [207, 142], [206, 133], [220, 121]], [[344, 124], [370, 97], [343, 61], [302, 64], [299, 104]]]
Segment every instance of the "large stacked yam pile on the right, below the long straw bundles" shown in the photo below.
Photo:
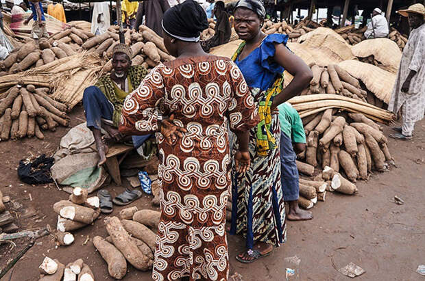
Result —
[[330, 167], [355, 183], [367, 180], [372, 170], [385, 172], [393, 161], [382, 127], [362, 113], [326, 109], [303, 123], [307, 148], [298, 155], [302, 174], [313, 176], [315, 169]]

